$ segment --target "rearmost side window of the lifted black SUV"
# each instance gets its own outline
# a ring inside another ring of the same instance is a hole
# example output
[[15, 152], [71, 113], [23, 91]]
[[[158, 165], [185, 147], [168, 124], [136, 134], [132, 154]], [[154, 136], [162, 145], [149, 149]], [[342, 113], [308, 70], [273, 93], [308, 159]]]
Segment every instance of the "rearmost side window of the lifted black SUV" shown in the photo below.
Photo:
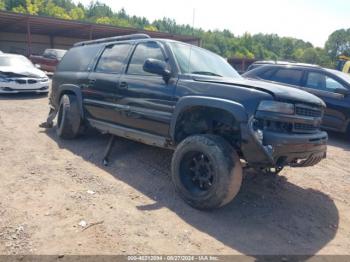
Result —
[[58, 65], [57, 71], [88, 71], [89, 65], [100, 46], [88, 45], [71, 48]]

